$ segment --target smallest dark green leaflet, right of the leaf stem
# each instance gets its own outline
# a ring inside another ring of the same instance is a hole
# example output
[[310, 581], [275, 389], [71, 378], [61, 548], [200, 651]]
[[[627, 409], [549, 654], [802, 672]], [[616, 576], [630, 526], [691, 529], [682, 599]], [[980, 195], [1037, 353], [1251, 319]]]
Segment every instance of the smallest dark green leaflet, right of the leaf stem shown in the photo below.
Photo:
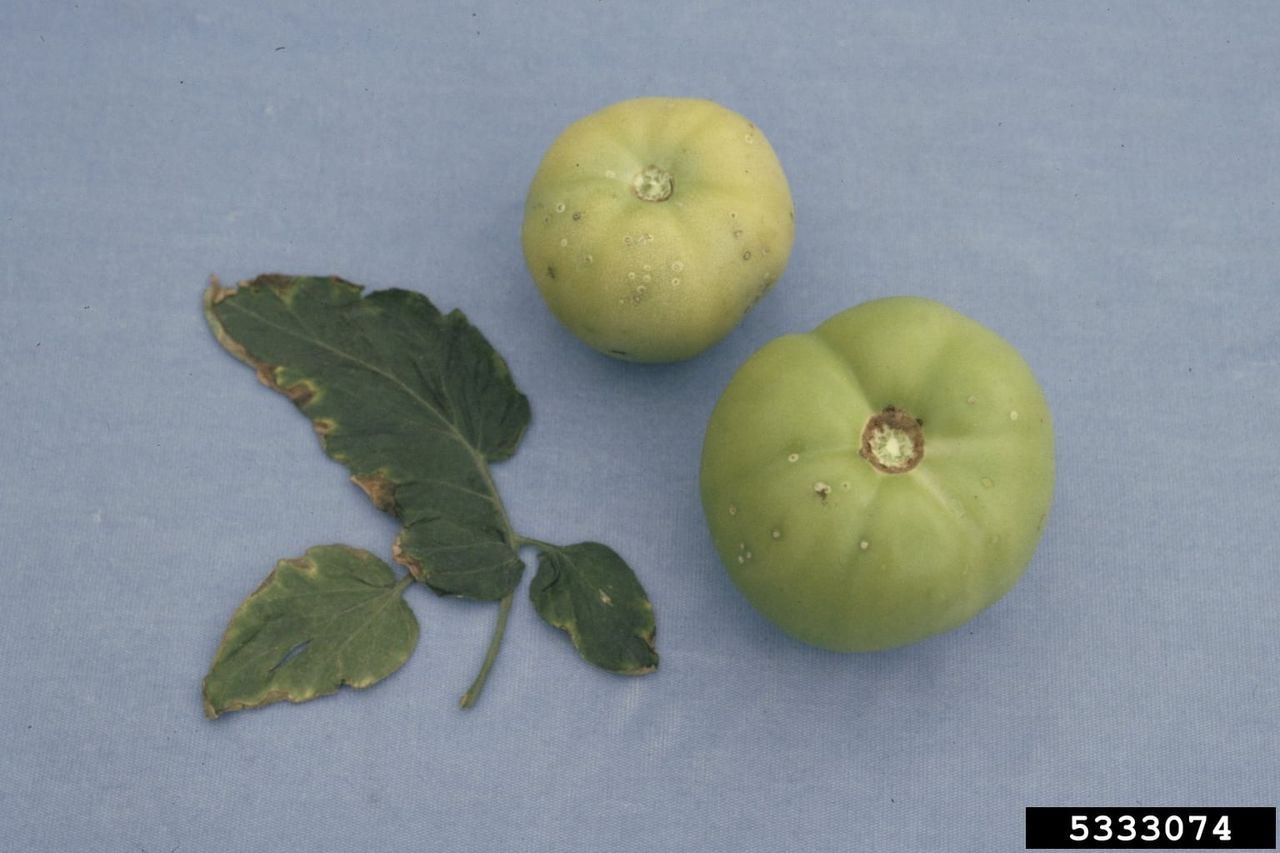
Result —
[[590, 663], [623, 675], [653, 672], [653, 606], [631, 566], [598, 542], [538, 548], [538, 574], [529, 587], [538, 615], [568, 633]]

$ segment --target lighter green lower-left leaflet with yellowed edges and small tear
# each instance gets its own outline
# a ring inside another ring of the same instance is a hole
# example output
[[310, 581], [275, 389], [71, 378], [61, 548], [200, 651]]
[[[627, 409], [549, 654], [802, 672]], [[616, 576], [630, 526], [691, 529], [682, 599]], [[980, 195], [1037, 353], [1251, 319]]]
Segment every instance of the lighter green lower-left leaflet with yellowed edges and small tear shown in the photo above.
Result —
[[408, 660], [417, 620], [385, 562], [347, 546], [282, 560], [244, 599], [205, 676], [205, 713], [366, 688]]

